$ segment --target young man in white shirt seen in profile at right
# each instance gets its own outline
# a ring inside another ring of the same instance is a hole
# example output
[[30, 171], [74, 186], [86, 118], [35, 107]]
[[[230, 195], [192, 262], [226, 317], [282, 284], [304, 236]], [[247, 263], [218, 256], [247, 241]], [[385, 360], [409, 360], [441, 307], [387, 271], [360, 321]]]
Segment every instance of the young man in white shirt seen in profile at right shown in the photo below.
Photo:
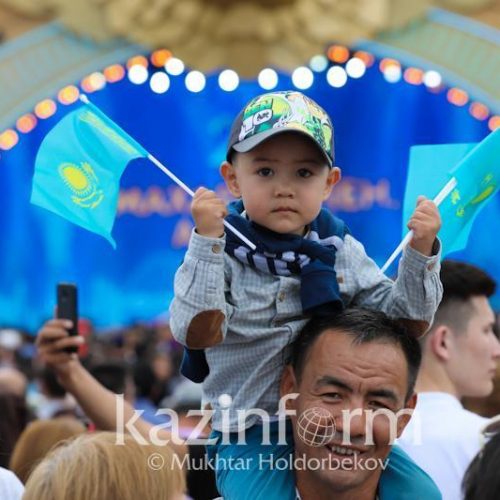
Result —
[[434, 479], [445, 500], [456, 500], [487, 422], [460, 400], [491, 393], [500, 343], [488, 303], [495, 292], [491, 277], [471, 264], [445, 260], [441, 281], [443, 300], [422, 340], [416, 412], [400, 445]]

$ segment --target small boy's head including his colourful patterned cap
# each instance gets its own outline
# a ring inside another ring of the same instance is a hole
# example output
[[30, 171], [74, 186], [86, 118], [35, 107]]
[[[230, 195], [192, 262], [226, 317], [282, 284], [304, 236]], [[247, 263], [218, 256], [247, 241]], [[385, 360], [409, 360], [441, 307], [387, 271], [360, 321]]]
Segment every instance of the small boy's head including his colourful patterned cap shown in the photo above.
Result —
[[333, 126], [300, 92], [271, 92], [235, 119], [221, 174], [248, 217], [279, 233], [303, 234], [340, 180]]

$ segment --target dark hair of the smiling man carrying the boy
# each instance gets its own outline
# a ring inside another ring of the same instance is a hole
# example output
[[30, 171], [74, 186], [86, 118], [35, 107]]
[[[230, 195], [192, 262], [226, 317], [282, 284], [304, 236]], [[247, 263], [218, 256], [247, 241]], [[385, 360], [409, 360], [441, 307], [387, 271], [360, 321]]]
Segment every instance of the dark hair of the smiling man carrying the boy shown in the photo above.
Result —
[[298, 380], [314, 343], [326, 330], [337, 330], [351, 336], [354, 345], [382, 341], [399, 346], [408, 363], [406, 400], [411, 397], [422, 361], [420, 344], [397, 320], [390, 319], [383, 312], [367, 309], [346, 309], [309, 320], [292, 345], [290, 364]]

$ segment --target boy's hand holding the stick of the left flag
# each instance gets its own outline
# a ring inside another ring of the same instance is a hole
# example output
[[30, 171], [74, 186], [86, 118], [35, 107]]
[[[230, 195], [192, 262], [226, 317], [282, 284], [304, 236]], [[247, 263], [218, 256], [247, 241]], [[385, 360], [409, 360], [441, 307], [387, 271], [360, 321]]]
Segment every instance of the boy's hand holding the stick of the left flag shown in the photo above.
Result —
[[198, 234], [207, 238], [220, 238], [224, 234], [226, 204], [213, 191], [206, 188], [196, 190], [191, 203], [191, 214]]

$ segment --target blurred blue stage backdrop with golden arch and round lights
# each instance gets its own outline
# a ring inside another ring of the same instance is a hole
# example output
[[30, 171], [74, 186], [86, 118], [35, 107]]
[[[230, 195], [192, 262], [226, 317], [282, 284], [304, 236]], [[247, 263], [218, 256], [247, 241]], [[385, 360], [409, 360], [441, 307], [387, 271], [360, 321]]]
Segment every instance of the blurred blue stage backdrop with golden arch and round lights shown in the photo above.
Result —
[[[233, 117], [266, 90], [305, 92], [335, 127], [343, 179], [327, 205], [382, 265], [401, 239], [409, 148], [500, 126], [499, 27], [498, 0], [0, 0], [0, 325], [32, 333], [59, 281], [98, 329], [168, 321], [192, 222], [154, 165], [122, 177], [116, 251], [29, 203], [40, 142], [80, 93], [192, 188], [227, 196]], [[499, 213], [496, 197], [451, 255], [497, 280]]]

